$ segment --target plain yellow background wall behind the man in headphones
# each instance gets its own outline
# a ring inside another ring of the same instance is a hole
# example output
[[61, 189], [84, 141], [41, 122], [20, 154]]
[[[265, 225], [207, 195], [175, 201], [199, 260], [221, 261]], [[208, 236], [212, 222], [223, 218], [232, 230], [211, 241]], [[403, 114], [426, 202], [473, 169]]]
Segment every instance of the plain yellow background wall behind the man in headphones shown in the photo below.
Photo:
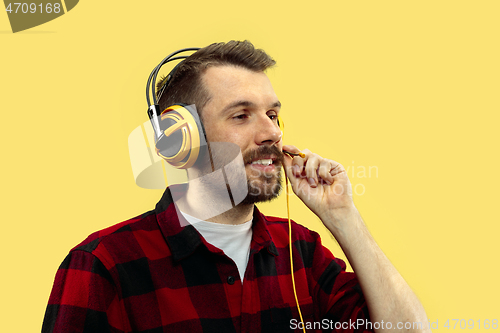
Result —
[[[358, 209], [439, 330], [500, 319], [499, 10], [496, 0], [83, 0], [17, 34], [0, 13], [2, 331], [39, 331], [68, 250], [160, 198], [134, 184], [127, 148], [147, 120], [151, 69], [230, 39], [278, 61], [269, 76], [286, 143], [354, 168]], [[378, 177], [356, 175], [369, 166]], [[283, 199], [262, 209], [285, 216]], [[297, 198], [291, 214], [343, 257]]]

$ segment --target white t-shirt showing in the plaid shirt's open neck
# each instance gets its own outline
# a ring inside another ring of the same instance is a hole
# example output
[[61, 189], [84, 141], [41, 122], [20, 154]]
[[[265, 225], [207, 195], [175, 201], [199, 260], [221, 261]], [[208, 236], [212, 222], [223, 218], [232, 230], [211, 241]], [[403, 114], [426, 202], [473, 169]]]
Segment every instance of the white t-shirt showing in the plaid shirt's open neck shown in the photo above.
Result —
[[241, 283], [243, 283], [250, 255], [252, 220], [236, 225], [221, 224], [203, 221], [184, 212], [181, 213], [207, 242], [224, 251], [235, 262], [240, 273]]

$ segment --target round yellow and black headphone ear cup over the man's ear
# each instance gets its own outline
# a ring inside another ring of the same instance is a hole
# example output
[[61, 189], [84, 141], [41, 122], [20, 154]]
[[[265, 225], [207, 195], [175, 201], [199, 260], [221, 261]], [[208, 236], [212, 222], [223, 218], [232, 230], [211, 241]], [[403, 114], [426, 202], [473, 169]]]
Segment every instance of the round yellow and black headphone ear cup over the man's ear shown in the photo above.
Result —
[[206, 137], [196, 108], [176, 104], [160, 115], [161, 136], [156, 142], [156, 153], [178, 169], [192, 167]]

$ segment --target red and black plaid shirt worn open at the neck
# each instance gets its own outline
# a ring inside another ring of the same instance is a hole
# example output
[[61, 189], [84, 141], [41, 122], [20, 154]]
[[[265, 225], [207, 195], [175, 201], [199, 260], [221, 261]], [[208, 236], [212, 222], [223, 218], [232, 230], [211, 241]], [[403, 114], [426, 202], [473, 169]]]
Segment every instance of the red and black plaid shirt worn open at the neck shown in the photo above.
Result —
[[[181, 226], [167, 189], [154, 211], [98, 231], [70, 251], [42, 332], [292, 332], [300, 319], [288, 222], [255, 208], [252, 228], [242, 284], [231, 259], [192, 225]], [[330, 331], [334, 323], [364, 332], [346, 324], [369, 320], [354, 273], [315, 232], [293, 222], [292, 236], [308, 332]]]

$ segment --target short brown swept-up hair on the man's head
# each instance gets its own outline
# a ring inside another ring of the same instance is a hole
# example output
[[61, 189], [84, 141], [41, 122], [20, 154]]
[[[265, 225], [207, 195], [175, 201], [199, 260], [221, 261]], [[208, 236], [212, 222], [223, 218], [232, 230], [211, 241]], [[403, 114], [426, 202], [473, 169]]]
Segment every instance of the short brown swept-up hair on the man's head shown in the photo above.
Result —
[[[232, 40], [211, 44], [196, 51], [180, 64], [158, 102], [160, 110], [175, 103], [195, 104], [201, 115], [201, 110], [210, 98], [202, 85], [201, 76], [210, 66], [233, 65], [263, 72], [274, 64], [276, 62], [266, 52], [256, 49], [249, 41]], [[160, 79], [156, 85], [157, 92], [165, 81], [166, 77]]]

